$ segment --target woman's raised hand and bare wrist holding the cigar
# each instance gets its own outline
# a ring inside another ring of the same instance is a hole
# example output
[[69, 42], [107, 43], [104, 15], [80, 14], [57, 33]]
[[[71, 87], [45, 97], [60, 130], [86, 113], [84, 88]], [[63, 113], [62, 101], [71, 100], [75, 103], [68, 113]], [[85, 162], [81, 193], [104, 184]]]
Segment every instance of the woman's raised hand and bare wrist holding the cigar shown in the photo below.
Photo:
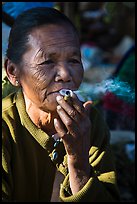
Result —
[[68, 169], [72, 193], [78, 192], [89, 179], [89, 148], [91, 121], [89, 110], [91, 101], [84, 105], [73, 94], [71, 104], [62, 96], [57, 96], [58, 119], [54, 120], [57, 134], [64, 143], [68, 155]]

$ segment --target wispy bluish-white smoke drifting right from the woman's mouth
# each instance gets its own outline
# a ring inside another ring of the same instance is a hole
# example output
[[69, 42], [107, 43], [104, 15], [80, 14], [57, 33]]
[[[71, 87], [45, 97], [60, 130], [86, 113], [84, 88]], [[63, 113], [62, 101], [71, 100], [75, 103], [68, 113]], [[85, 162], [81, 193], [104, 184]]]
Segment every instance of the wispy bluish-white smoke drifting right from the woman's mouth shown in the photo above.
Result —
[[128, 82], [120, 81], [119, 78], [103, 80], [96, 84], [83, 83], [80, 90], [90, 96], [91, 100], [101, 98], [107, 92], [113, 92], [127, 103], [135, 102], [135, 91]]

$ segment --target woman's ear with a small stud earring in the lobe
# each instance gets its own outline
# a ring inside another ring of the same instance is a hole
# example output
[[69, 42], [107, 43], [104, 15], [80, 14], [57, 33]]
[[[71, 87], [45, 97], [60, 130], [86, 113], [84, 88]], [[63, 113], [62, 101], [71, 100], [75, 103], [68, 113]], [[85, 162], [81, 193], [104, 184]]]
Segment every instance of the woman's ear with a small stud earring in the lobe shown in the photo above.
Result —
[[10, 59], [6, 58], [4, 61], [4, 68], [6, 70], [6, 74], [10, 83], [13, 86], [19, 86], [17, 66], [13, 62], [11, 62]]

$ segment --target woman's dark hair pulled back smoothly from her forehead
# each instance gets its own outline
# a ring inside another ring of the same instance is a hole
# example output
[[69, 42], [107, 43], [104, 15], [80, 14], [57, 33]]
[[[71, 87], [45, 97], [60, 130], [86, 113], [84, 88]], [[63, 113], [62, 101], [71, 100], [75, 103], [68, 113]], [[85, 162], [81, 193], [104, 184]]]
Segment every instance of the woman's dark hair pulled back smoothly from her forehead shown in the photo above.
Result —
[[28, 48], [28, 34], [33, 28], [48, 24], [67, 24], [78, 34], [74, 24], [60, 11], [49, 7], [29, 9], [16, 18], [11, 28], [6, 56], [15, 64], [21, 62], [22, 55]]

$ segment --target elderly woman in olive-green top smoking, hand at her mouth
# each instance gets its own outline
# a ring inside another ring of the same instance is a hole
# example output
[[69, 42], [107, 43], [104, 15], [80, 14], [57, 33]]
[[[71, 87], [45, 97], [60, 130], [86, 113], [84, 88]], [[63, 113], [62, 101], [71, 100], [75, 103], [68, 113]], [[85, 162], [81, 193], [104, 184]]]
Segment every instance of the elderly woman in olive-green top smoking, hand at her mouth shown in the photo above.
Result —
[[3, 201], [51, 201], [56, 172], [63, 202], [118, 201], [108, 128], [92, 102], [73, 92], [83, 67], [70, 20], [52, 8], [18, 16], [5, 70], [20, 88], [2, 102]]

